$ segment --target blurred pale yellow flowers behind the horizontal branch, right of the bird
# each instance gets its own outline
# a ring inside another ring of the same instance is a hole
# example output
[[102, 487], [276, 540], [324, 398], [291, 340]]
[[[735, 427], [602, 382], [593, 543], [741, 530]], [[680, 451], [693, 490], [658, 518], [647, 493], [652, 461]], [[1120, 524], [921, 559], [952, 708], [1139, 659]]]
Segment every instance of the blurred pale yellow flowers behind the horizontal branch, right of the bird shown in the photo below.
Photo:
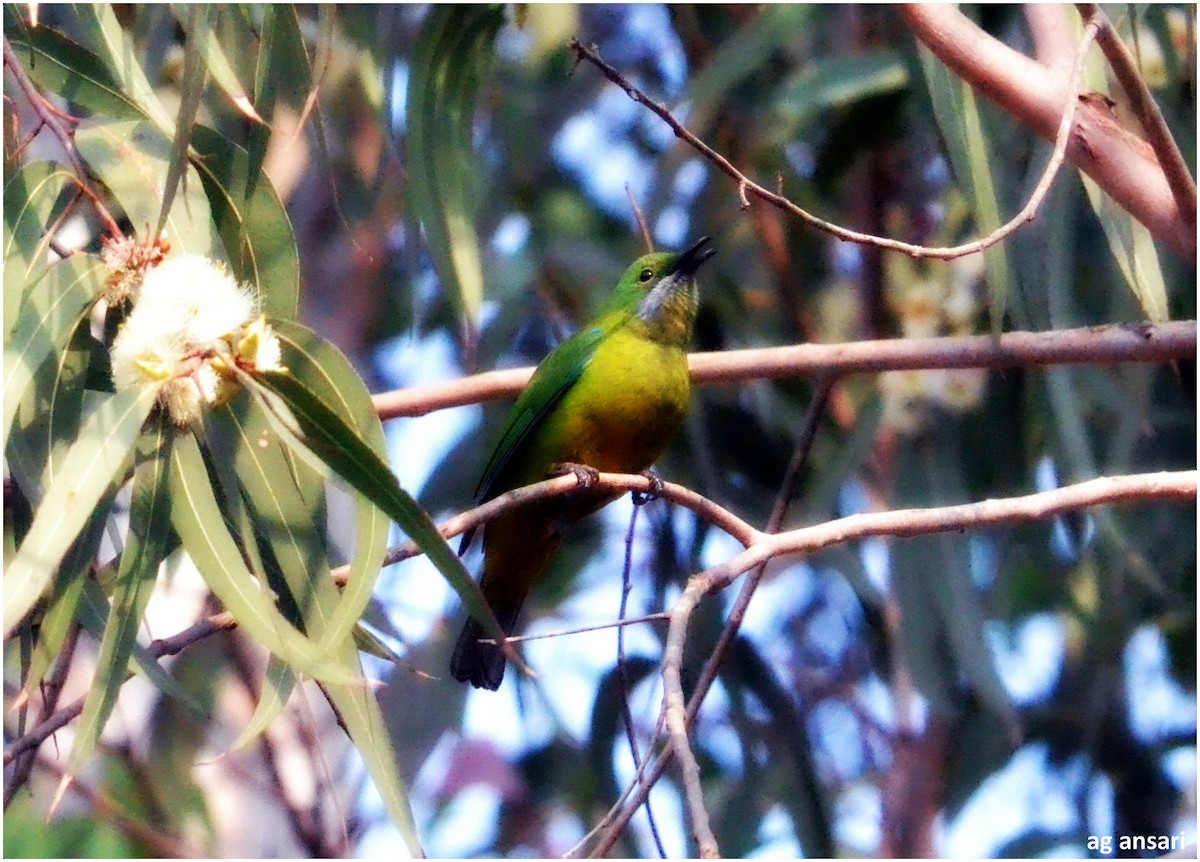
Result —
[[[896, 256], [898, 257], [898, 256]], [[970, 335], [982, 311], [978, 295], [983, 259], [950, 261], [932, 279], [912, 262], [898, 259], [889, 271], [888, 307], [905, 337]], [[926, 427], [938, 409], [967, 413], [983, 400], [988, 373], [983, 369], [917, 369], [880, 375], [883, 419], [900, 433]]]

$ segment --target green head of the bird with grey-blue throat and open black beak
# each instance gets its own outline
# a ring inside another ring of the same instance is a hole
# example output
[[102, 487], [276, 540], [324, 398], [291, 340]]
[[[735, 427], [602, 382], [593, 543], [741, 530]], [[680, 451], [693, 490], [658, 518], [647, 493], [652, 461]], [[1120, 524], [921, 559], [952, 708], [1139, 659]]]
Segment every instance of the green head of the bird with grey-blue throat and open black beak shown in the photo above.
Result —
[[713, 240], [703, 237], [682, 255], [643, 255], [620, 276], [607, 311], [636, 316], [655, 341], [686, 345], [696, 319], [696, 270], [714, 253]]

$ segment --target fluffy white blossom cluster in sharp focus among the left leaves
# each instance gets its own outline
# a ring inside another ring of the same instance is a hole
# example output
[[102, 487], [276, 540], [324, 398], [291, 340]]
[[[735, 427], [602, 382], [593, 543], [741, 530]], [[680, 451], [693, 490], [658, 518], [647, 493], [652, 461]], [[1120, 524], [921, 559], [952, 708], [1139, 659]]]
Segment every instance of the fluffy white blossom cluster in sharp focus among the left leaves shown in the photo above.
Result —
[[145, 271], [112, 348], [118, 391], [152, 384], [176, 425], [236, 391], [236, 369], [277, 371], [280, 341], [248, 285], [199, 255]]

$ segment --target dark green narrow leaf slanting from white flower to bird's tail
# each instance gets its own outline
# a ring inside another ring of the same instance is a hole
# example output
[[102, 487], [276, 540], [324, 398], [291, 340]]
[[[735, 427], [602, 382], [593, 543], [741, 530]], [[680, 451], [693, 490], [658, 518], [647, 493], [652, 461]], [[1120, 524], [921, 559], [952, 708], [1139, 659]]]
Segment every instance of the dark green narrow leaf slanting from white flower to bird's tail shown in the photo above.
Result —
[[430, 520], [428, 514], [396, 481], [388, 463], [311, 389], [288, 372], [244, 375], [272, 417], [275, 430], [314, 469], [332, 471], [394, 520], [425, 551], [488, 634], [500, 639], [500, 627], [479, 585], [463, 568]]

